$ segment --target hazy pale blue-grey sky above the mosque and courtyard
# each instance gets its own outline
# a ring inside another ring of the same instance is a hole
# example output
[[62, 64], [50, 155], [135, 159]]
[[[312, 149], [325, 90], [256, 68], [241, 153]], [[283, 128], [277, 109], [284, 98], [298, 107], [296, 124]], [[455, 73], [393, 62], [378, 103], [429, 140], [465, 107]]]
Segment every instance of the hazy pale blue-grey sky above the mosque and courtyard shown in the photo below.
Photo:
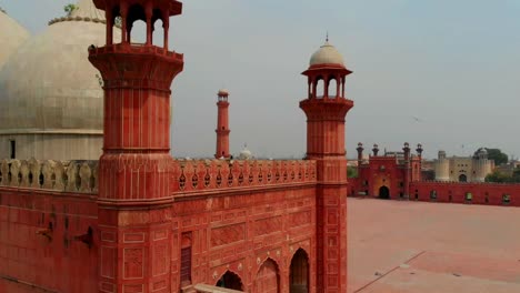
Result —
[[[0, 0], [32, 33], [73, 0]], [[184, 53], [173, 82], [174, 156], [211, 156], [216, 93], [230, 91], [231, 152], [306, 152], [300, 73], [326, 31], [353, 71], [347, 149], [397, 150], [421, 142], [470, 154], [478, 146], [520, 155], [518, 0], [186, 0], [170, 48]], [[419, 122], [413, 119], [419, 118]], [[463, 148], [462, 148], [463, 145]]]

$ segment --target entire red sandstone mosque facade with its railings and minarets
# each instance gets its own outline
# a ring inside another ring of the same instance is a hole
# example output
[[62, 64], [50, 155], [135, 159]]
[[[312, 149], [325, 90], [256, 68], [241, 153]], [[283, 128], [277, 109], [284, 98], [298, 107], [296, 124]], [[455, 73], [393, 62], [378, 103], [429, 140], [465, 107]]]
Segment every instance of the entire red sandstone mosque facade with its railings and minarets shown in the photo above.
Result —
[[[107, 16], [106, 46], [89, 48], [104, 82], [103, 154], [0, 162], [0, 292], [347, 292], [350, 71], [303, 72], [307, 160], [174, 160], [170, 85], [183, 58], [169, 51], [168, 28], [181, 3], [94, 3]], [[117, 17], [122, 37], [112, 43]], [[152, 46], [158, 19], [163, 48]], [[141, 46], [129, 38], [136, 20], [147, 23]], [[331, 80], [337, 94], [318, 95], [316, 84]], [[229, 154], [219, 103], [217, 154]]]

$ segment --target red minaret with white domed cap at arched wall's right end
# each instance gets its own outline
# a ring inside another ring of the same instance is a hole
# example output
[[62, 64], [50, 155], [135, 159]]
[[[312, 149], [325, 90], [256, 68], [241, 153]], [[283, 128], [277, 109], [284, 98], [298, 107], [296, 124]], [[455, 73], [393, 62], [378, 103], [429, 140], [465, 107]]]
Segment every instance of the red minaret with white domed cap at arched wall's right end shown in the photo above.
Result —
[[[347, 292], [347, 159], [344, 117], [353, 102], [344, 98], [350, 74], [341, 54], [327, 41], [302, 74], [308, 98], [300, 102], [307, 114], [307, 159], [317, 161], [317, 289]], [[323, 84], [318, 92], [318, 84]]]

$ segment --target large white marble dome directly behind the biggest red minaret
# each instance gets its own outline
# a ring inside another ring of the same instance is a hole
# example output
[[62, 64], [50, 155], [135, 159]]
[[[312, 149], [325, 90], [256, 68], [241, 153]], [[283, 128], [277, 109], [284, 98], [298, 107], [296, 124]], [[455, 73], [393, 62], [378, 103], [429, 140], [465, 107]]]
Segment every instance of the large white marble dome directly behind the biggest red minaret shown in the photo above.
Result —
[[[91, 0], [77, 7], [50, 21], [0, 69], [0, 137], [20, 141], [22, 159], [97, 159], [101, 153], [103, 91], [88, 47], [106, 43], [104, 13]], [[81, 146], [89, 143], [96, 145]], [[0, 142], [2, 156], [4, 145]]]

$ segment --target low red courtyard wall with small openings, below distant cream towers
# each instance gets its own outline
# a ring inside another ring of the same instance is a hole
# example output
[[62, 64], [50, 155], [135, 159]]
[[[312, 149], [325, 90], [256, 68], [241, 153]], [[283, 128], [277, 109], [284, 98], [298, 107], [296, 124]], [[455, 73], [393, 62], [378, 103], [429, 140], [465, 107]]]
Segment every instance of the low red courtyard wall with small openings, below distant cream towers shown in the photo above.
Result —
[[[432, 190], [437, 191], [437, 200], [430, 199]], [[466, 201], [467, 192], [472, 194], [471, 202]], [[412, 182], [410, 185], [410, 199], [416, 199], [416, 194], [419, 201], [520, 206], [520, 184]], [[503, 194], [510, 195], [509, 204], [502, 202]]]

